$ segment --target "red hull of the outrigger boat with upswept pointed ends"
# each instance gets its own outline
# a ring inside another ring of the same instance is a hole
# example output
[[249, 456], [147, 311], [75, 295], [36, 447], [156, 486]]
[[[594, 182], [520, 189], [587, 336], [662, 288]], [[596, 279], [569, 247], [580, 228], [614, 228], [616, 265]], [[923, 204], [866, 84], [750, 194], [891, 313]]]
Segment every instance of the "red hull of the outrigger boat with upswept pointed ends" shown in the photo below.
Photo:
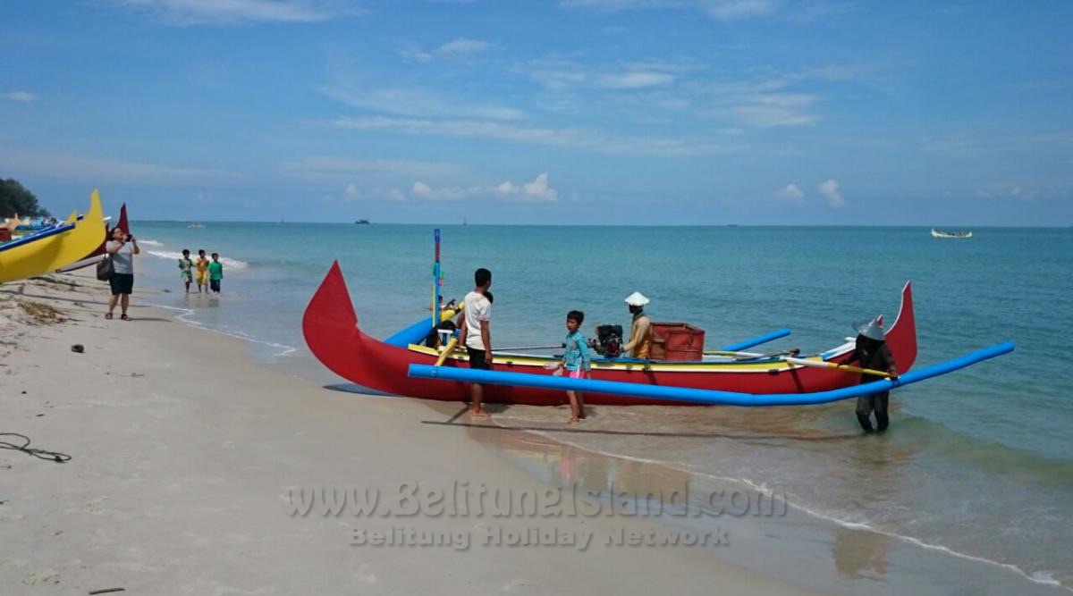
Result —
[[[437, 349], [418, 345], [392, 345], [362, 331], [338, 263], [333, 264], [306, 308], [302, 327], [313, 355], [328, 369], [352, 383], [399, 396], [469, 401], [468, 383], [408, 376], [411, 364], [435, 364], [441, 355]], [[898, 318], [887, 331], [886, 341], [899, 370], [908, 371], [916, 359], [916, 324], [908, 283], [901, 292]], [[820, 367], [824, 362], [840, 363], [849, 358], [852, 349], [851, 341], [808, 359], [813, 360], [811, 364]], [[493, 369], [527, 375], [550, 375], [552, 372], [544, 364], [555, 360], [553, 356], [497, 353]], [[469, 368], [465, 352], [447, 355], [442, 366]], [[734, 360], [716, 357], [691, 362], [597, 359], [592, 362], [591, 378], [648, 386], [784, 394], [840, 389], [858, 384], [861, 377], [858, 373], [806, 367], [782, 358]], [[508, 385], [485, 386], [484, 400], [488, 403], [530, 405], [568, 403], [567, 396], [561, 390]], [[585, 401], [597, 405], [675, 403], [588, 391], [585, 393]], [[695, 404], [681, 402], [681, 405]]]

